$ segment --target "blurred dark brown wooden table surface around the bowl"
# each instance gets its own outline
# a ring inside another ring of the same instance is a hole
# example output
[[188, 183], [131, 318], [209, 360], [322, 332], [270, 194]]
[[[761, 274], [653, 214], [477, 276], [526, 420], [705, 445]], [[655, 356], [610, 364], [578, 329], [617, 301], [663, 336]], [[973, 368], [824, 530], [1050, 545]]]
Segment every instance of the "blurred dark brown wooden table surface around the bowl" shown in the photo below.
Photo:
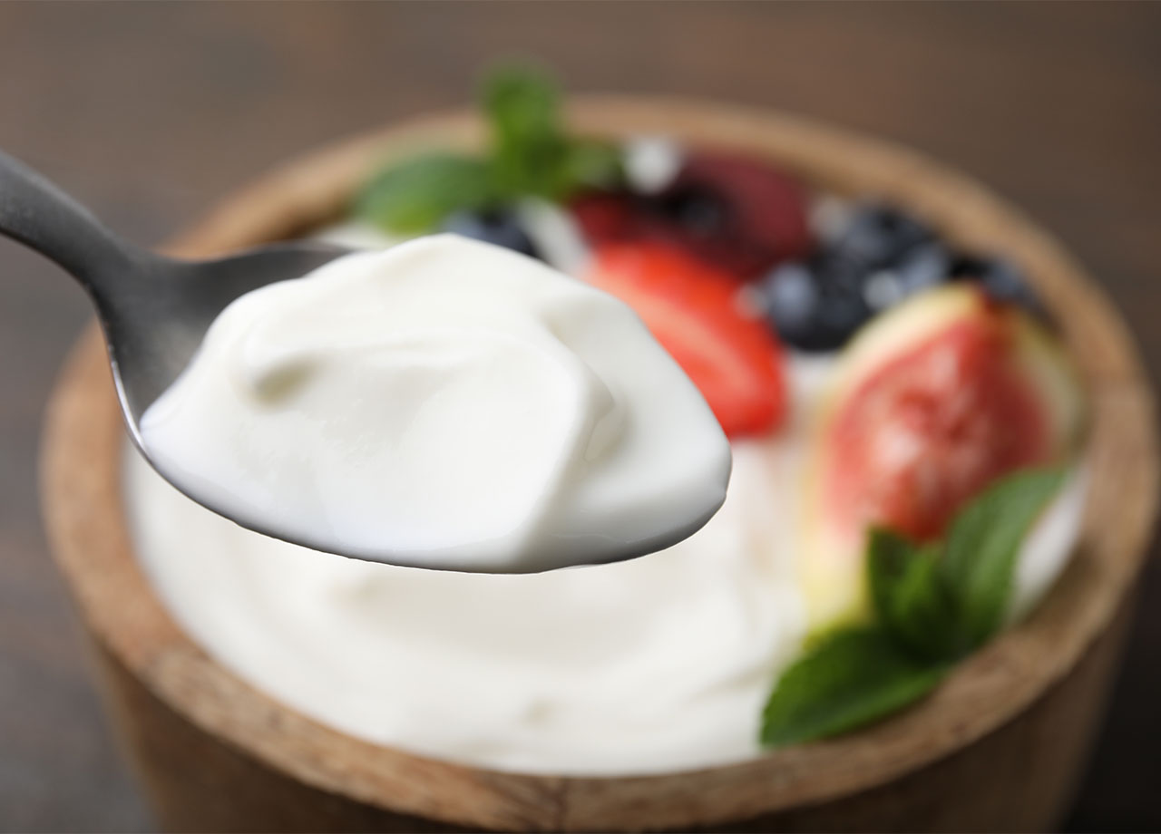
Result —
[[[1068, 241], [1161, 369], [1161, 5], [0, 5], [0, 147], [156, 242], [332, 137], [459, 104], [538, 56], [578, 90], [795, 110], [899, 139]], [[36, 498], [41, 413], [87, 316], [0, 242], [0, 829], [150, 826]], [[1073, 829], [1161, 829], [1161, 568]], [[965, 785], [971, 790], [971, 785]]]

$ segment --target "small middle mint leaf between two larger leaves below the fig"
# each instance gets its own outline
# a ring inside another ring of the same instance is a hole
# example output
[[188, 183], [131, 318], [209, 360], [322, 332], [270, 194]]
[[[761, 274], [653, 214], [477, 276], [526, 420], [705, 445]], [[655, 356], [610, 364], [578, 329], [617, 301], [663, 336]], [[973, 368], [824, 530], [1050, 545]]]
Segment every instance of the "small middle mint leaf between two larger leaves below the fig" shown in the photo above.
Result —
[[892, 637], [928, 660], [962, 655], [959, 607], [944, 582], [938, 547], [872, 528], [866, 566], [875, 616]]

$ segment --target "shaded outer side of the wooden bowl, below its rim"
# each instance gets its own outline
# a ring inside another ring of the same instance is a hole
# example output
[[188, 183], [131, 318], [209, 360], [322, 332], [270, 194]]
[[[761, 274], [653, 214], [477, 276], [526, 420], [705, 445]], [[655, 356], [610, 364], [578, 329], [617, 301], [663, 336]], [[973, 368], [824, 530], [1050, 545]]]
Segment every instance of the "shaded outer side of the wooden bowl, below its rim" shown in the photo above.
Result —
[[[1066, 810], [1067, 789], [1096, 730], [1096, 708], [1106, 696], [1127, 615], [1126, 608], [1072, 674], [978, 744], [875, 789], [700, 829], [902, 834], [1045, 828], [1045, 820], [1058, 819]], [[98, 651], [117, 724], [134, 748], [140, 778], [166, 831], [478, 829], [388, 811], [289, 778], [189, 723], [115, 655]], [[947, 802], [949, 793], [960, 795], [961, 800]]]

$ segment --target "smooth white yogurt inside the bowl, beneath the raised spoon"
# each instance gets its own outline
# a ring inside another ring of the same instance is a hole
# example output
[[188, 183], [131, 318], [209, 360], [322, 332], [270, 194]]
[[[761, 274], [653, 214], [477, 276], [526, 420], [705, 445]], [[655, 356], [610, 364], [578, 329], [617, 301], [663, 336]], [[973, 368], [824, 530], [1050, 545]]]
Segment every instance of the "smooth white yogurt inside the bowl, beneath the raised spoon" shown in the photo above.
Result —
[[[197, 506], [130, 448], [136, 550], [219, 662], [358, 738], [545, 774], [743, 761], [762, 753], [762, 705], [807, 628], [793, 516], [829, 369], [793, 358], [788, 425], [734, 443], [721, 510], [633, 561], [481, 575], [317, 553]], [[1084, 492], [1080, 471], [1025, 541], [1014, 618], [1066, 564]]]

